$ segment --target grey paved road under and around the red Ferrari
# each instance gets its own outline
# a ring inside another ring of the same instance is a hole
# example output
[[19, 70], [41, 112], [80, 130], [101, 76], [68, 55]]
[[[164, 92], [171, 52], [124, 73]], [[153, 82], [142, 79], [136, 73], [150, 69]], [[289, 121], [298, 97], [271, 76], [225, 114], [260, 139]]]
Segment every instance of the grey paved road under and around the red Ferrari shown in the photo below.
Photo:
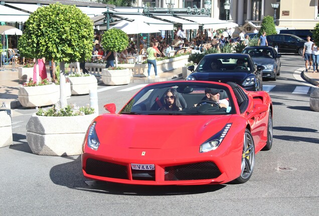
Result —
[[[85, 179], [79, 156], [31, 153], [25, 124], [35, 110], [17, 109], [15, 144], [0, 148], [0, 215], [318, 215], [319, 112], [309, 109], [310, 85], [297, 70], [302, 59], [282, 60], [277, 81], [264, 81], [274, 104], [273, 148], [256, 155], [247, 183], [154, 187]], [[99, 112], [108, 102], [119, 110], [137, 86], [99, 86]]]

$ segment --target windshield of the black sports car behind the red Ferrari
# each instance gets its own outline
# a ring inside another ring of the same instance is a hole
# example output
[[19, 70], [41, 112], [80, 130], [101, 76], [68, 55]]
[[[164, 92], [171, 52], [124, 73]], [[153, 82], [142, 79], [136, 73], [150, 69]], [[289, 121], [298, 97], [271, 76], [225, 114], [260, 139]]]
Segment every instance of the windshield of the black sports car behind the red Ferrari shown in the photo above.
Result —
[[198, 64], [197, 72], [253, 71], [251, 61], [245, 55], [211, 55]]

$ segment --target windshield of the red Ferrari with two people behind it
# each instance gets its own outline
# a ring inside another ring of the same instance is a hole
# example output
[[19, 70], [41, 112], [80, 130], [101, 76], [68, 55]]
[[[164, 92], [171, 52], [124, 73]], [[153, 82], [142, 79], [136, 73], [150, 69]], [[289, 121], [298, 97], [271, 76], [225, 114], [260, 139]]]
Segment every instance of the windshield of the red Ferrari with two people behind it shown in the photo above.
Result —
[[160, 83], [141, 89], [121, 114], [215, 115], [232, 114], [233, 99], [224, 85], [210, 83]]

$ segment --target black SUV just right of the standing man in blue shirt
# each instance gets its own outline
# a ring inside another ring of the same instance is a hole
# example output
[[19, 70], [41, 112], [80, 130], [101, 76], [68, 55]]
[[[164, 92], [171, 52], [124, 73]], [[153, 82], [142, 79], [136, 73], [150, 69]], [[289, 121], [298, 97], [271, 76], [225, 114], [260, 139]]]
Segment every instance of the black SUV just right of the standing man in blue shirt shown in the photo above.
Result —
[[268, 45], [278, 46], [278, 52], [298, 53], [302, 55], [304, 39], [293, 34], [272, 34], [267, 35]]

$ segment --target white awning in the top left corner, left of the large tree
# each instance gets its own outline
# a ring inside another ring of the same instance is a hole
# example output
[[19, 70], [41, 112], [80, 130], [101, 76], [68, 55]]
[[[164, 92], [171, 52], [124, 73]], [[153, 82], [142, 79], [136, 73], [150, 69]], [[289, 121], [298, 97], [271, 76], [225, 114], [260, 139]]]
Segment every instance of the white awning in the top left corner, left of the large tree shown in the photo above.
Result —
[[0, 21], [6, 22], [25, 22], [30, 16], [30, 13], [26, 13], [17, 9], [13, 9], [4, 5], [0, 5]]

